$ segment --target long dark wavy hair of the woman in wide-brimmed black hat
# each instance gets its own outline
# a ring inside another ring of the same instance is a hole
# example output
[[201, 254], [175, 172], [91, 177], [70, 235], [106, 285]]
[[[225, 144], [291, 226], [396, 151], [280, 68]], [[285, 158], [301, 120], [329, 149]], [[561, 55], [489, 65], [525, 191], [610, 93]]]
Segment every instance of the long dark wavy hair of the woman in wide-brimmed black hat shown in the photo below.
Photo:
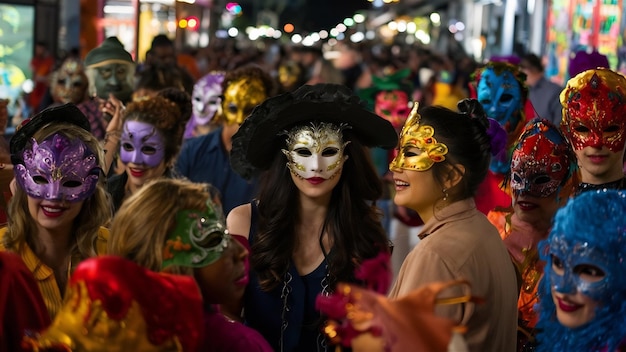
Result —
[[[333, 241], [334, 253], [327, 256], [331, 287], [338, 281], [354, 282], [354, 271], [363, 260], [389, 250], [376, 207], [382, 183], [367, 148], [350, 130], [343, 131], [343, 138], [350, 142], [344, 150], [348, 159], [332, 191], [324, 221]], [[282, 282], [295, 245], [298, 189], [286, 163], [286, 156], [276, 153], [259, 179], [259, 224], [250, 260], [266, 291]]]

